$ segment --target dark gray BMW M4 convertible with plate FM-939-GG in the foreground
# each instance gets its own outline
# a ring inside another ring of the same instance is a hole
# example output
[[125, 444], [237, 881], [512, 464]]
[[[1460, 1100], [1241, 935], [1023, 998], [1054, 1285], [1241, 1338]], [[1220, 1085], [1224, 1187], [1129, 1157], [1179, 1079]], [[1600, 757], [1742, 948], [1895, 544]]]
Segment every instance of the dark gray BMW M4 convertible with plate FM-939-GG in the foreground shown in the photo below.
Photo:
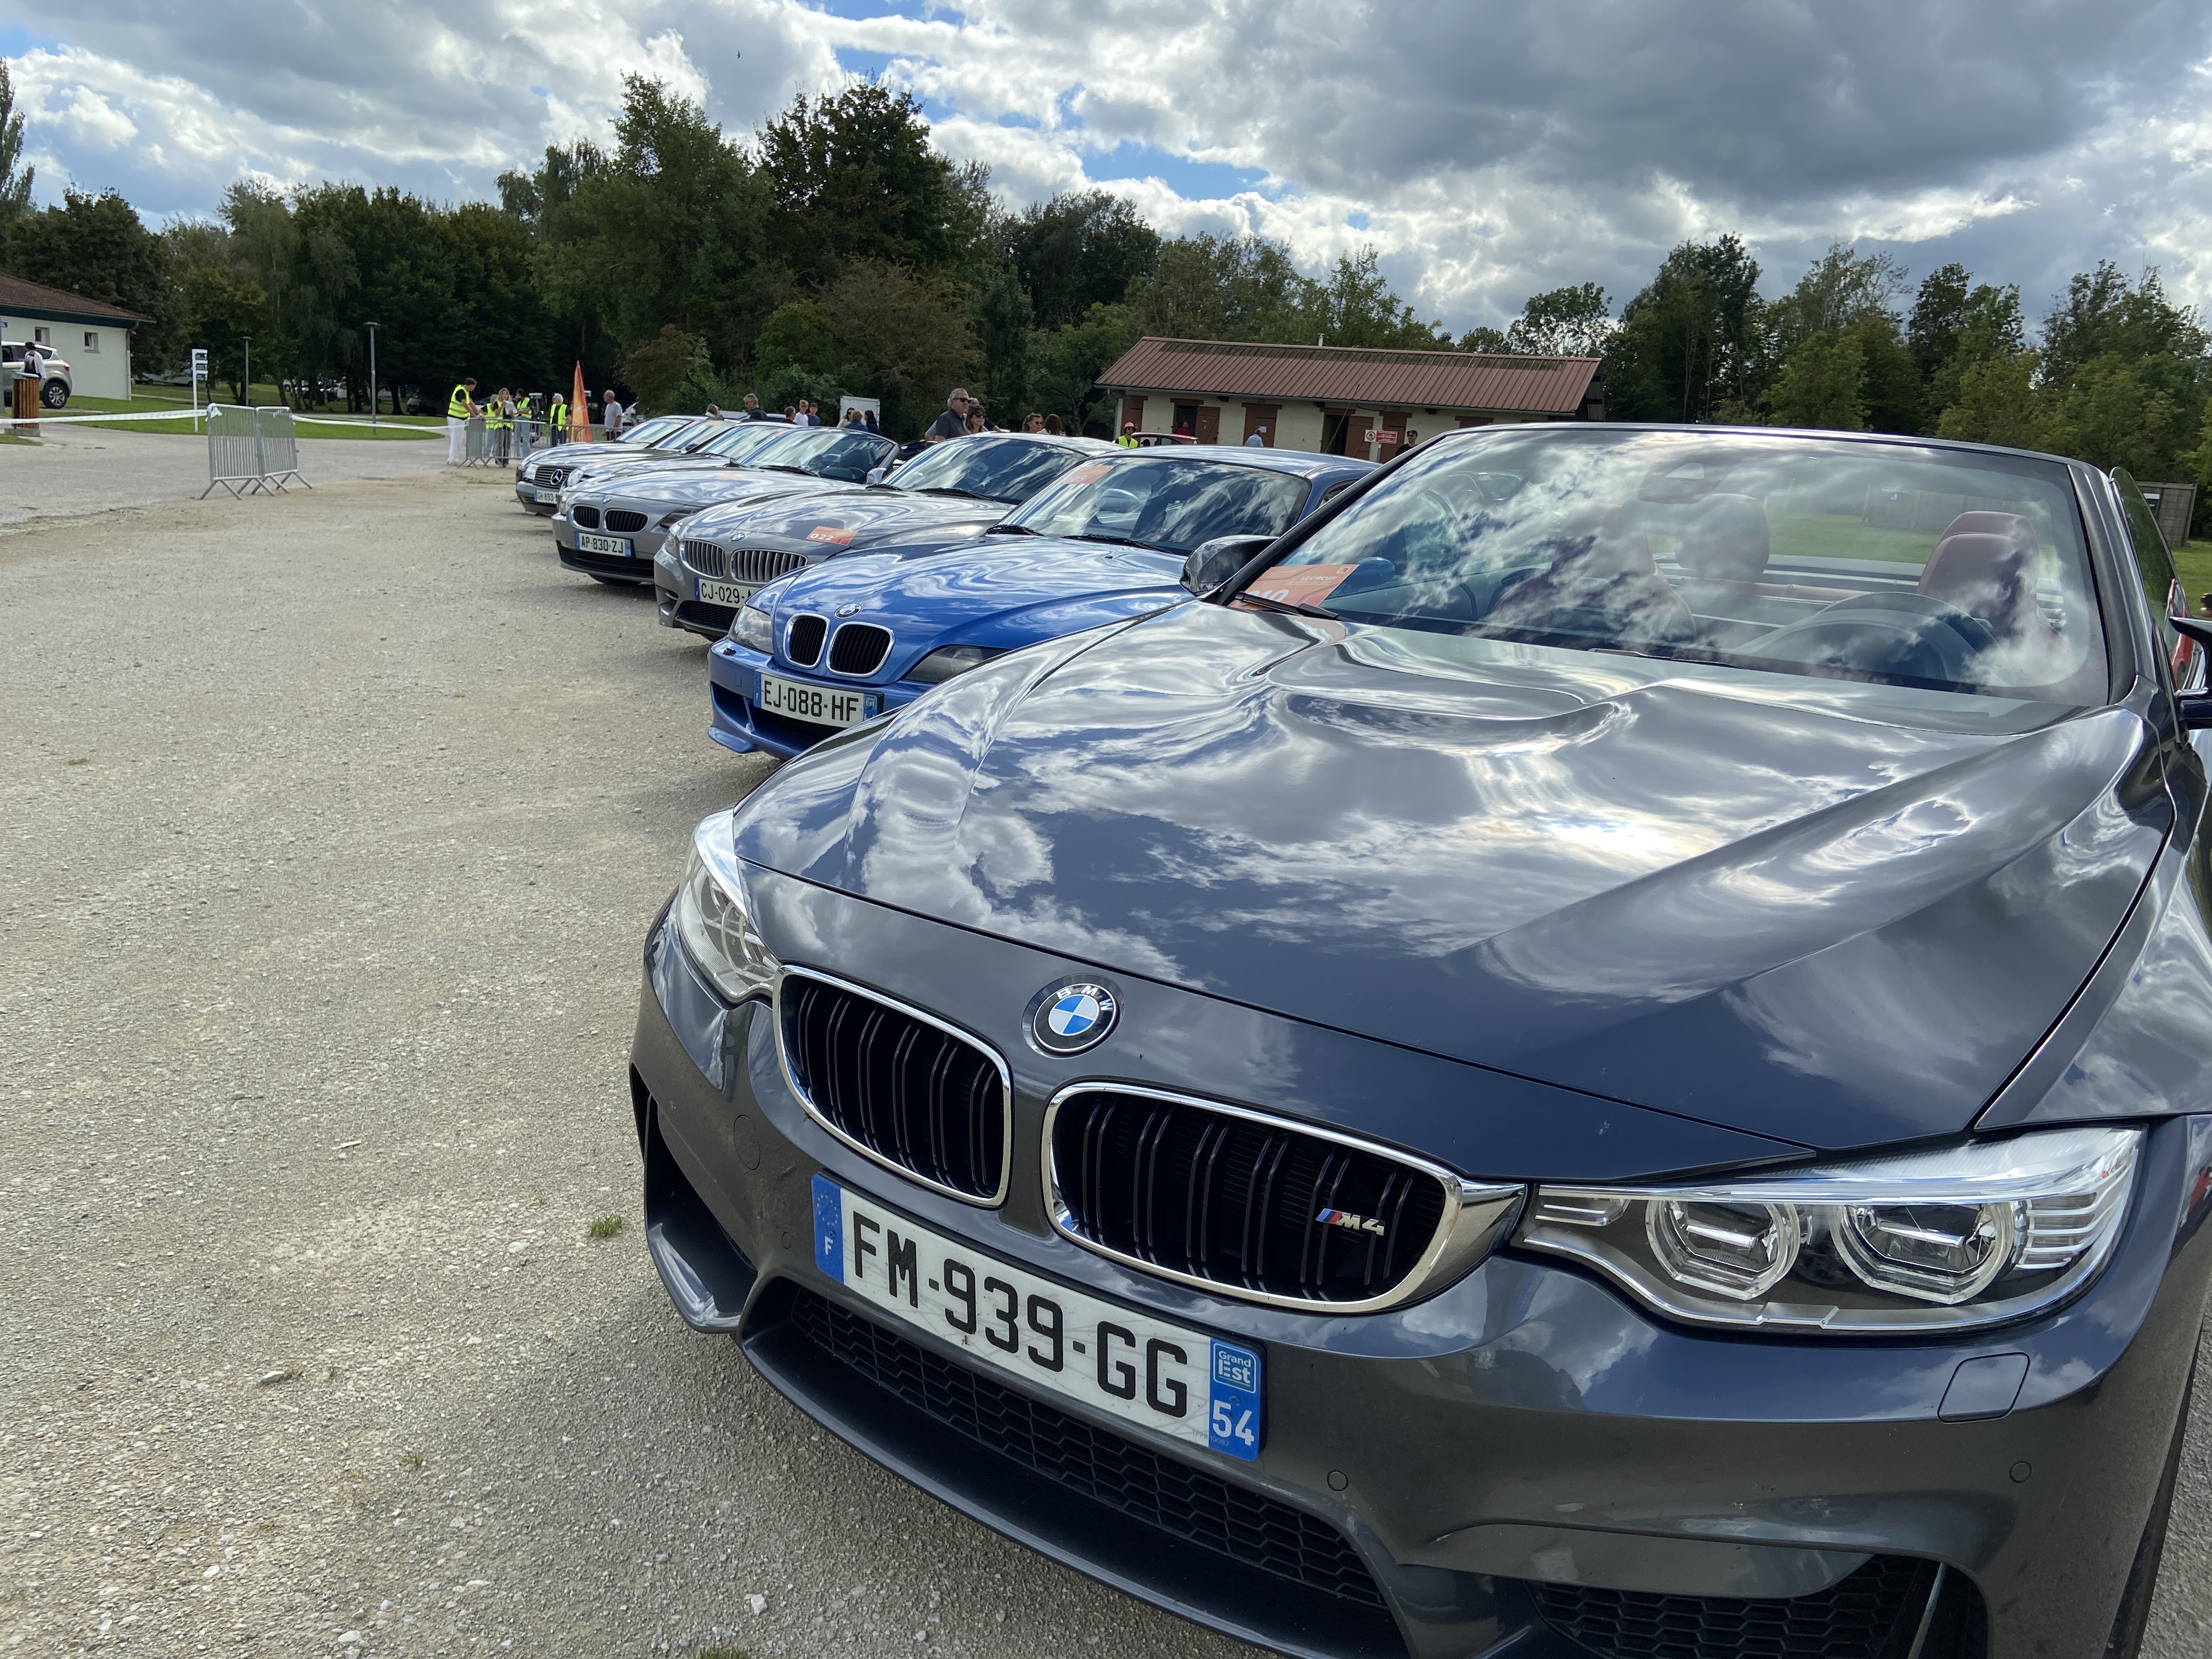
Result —
[[2126, 1659], [2205, 1314], [2201, 639], [2126, 476], [1453, 434], [699, 825], [677, 1312], [1294, 1655]]

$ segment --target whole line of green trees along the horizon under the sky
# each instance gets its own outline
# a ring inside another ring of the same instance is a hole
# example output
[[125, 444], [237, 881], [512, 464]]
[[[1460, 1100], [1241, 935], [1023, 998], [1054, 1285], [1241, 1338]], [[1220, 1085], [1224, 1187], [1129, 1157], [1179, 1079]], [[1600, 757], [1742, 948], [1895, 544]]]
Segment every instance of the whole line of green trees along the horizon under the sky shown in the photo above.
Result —
[[876, 82], [730, 137], [628, 75], [604, 144], [549, 146], [498, 177], [495, 204], [241, 179], [212, 219], [161, 230], [115, 190], [33, 208], [11, 102], [0, 62], [0, 268], [148, 314], [142, 367], [206, 345], [237, 385], [250, 336], [272, 380], [352, 407], [367, 319], [383, 385], [425, 403], [465, 374], [566, 387], [582, 363], [648, 409], [872, 396], [900, 436], [951, 385], [1006, 425], [1035, 409], [1104, 434], [1097, 374], [1146, 334], [1318, 338], [1597, 356], [1619, 420], [1973, 438], [2212, 484], [2212, 336], [2157, 268], [2077, 272], [2031, 334], [2020, 285], [1960, 263], [1913, 285], [1893, 254], [1836, 241], [1770, 299], [1750, 248], [1719, 234], [1668, 252], [1617, 314], [1599, 283], [1571, 283], [1453, 336], [1374, 248], [1307, 276], [1279, 241], [1164, 237], [1099, 188], [1006, 210], [989, 168], [938, 153], [916, 100]]

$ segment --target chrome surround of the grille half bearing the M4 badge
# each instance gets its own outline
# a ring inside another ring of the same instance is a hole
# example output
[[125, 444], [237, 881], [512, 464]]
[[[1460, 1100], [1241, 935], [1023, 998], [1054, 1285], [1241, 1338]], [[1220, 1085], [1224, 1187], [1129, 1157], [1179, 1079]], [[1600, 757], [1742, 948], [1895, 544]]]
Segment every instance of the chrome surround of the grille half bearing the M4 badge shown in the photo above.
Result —
[[[1259, 1126], [1263, 1130], [1281, 1135], [1298, 1135], [1314, 1141], [1327, 1141], [1349, 1152], [1358, 1152], [1374, 1159], [1387, 1159], [1416, 1175], [1438, 1181], [1442, 1188], [1442, 1214], [1436, 1221], [1436, 1230], [1427, 1248], [1418, 1254], [1413, 1265], [1387, 1290], [1376, 1296], [1360, 1301], [1329, 1301], [1321, 1296], [1285, 1296], [1270, 1290], [1254, 1290], [1228, 1279], [1210, 1279], [1206, 1274], [1183, 1272], [1179, 1267], [1166, 1267], [1155, 1261], [1146, 1261], [1139, 1254], [1117, 1250], [1099, 1239], [1093, 1239], [1082, 1223], [1075, 1219], [1075, 1210], [1068, 1206], [1066, 1194], [1060, 1186], [1060, 1148], [1057, 1128], [1060, 1113], [1071, 1102], [1084, 1095], [1121, 1095], [1133, 1099], [1159, 1102], [1175, 1108], [1188, 1108], [1199, 1113], [1214, 1113], [1230, 1119], [1241, 1119], [1243, 1124]], [[1442, 1290], [1462, 1274], [1475, 1267], [1489, 1252], [1513, 1230], [1520, 1219], [1522, 1203], [1528, 1190], [1522, 1183], [1486, 1183], [1469, 1181], [1467, 1177], [1453, 1175], [1440, 1164], [1429, 1159], [1400, 1152], [1391, 1146], [1380, 1146], [1376, 1141], [1360, 1139], [1356, 1135], [1343, 1135], [1334, 1128], [1323, 1128], [1318, 1124], [1301, 1121], [1294, 1117], [1279, 1117], [1274, 1113], [1252, 1110], [1250, 1106], [1230, 1106], [1219, 1099], [1203, 1099], [1199, 1095], [1179, 1095], [1164, 1088], [1139, 1088], [1133, 1084], [1110, 1084], [1110, 1082], [1079, 1082], [1068, 1084], [1053, 1095], [1044, 1110], [1044, 1157], [1040, 1159], [1044, 1172], [1044, 1212], [1051, 1217], [1053, 1230], [1060, 1232], [1071, 1243], [1079, 1243], [1108, 1261], [1119, 1261], [1124, 1267], [1135, 1267], [1137, 1272], [1155, 1274], [1159, 1279], [1170, 1279], [1177, 1285], [1190, 1285], [1192, 1290], [1206, 1290], [1217, 1296], [1234, 1296], [1237, 1301], [1261, 1303], [1263, 1307], [1294, 1307], [1301, 1312], [1329, 1312], [1329, 1314], [1376, 1314], [1387, 1307], [1398, 1307], [1418, 1296]]]

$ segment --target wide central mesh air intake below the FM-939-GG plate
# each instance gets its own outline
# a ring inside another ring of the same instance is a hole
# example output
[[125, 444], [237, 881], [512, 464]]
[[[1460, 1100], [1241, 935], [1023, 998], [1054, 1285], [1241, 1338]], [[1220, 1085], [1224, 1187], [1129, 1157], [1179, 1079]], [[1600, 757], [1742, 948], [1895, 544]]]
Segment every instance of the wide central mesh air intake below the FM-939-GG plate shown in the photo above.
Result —
[[812, 1290], [792, 1298], [792, 1323], [810, 1343], [953, 1433], [1084, 1498], [1279, 1579], [1340, 1601], [1383, 1606], [1349, 1540], [1301, 1509], [1093, 1429]]

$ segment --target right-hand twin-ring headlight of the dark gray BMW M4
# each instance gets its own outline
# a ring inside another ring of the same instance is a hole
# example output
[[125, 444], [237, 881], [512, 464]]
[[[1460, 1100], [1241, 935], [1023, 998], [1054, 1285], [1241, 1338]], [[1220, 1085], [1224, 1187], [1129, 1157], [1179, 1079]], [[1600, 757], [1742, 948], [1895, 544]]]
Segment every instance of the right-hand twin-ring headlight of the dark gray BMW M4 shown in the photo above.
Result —
[[1931, 1332], [2051, 1307], [2119, 1237], [2141, 1130], [1677, 1188], [1537, 1188], [1515, 1243], [1577, 1256], [1703, 1325]]

